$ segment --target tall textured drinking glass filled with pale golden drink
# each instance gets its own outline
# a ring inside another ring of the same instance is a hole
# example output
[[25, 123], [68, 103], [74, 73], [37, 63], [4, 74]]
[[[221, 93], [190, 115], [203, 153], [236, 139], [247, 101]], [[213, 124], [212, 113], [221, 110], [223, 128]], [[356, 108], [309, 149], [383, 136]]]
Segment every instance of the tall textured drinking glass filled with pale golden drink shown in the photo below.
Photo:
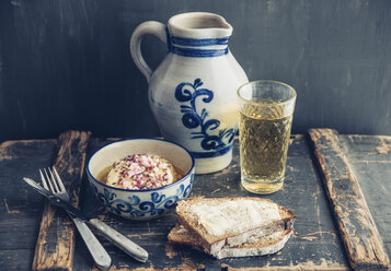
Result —
[[273, 193], [284, 186], [296, 91], [260, 80], [242, 85], [238, 96], [241, 184], [253, 193]]

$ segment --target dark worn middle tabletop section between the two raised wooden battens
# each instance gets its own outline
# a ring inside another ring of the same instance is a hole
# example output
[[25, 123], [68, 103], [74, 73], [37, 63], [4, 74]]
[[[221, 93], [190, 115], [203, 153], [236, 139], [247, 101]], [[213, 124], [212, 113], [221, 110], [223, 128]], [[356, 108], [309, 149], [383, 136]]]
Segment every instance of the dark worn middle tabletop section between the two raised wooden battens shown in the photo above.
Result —
[[[91, 154], [95, 149], [108, 142], [111, 141], [92, 139], [89, 153]], [[191, 196], [260, 197], [241, 188], [238, 141], [233, 151], [234, 158], [228, 168], [216, 174], [195, 177]], [[105, 247], [113, 258], [112, 270], [194, 270], [197, 268], [206, 270], [221, 270], [221, 268], [228, 268], [228, 270], [347, 270], [348, 262], [344, 248], [333, 223], [327, 198], [317, 173], [317, 166], [312, 162], [306, 137], [297, 136], [291, 139], [287, 163], [285, 187], [277, 193], [265, 198], [291, 210], [297, 221], [291, 239], [280, 252], [272, 256], [216, 260], [189, 247], [169, 245], [166, 235], [177, 222], [175, 213], [150, 222], [120, 219], [105, 211], [94, 199], [85, 178], [81, 197], [88, 200], [83, 201], [82, 209], [90, 214], [99, 215], [150, 254], [148, 262], [139, 263], [107, 244]], [[78, 248], [77, 254], [80, 251]], [[76, 260], [80, 260], [76, 264], [76, 270], [82, 270], [77, 266], [84, 268], [89, 263], [92, 264], [88, 257]]]

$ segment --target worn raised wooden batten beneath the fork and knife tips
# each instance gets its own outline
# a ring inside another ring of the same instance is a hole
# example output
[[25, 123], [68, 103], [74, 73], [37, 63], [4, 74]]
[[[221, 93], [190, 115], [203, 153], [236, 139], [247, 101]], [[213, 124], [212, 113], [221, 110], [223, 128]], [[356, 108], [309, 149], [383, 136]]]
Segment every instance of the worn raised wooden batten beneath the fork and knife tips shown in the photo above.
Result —
[[[74, 207], [79, 202], [89, 138], [89, 132], [79, 131], [67, 131], [58, 138], [59, 151], [54, 166], [61, 176]], [[71, 271], [73, 250], [72, 222], [62, 210], [46, 202], [32, 269]]]

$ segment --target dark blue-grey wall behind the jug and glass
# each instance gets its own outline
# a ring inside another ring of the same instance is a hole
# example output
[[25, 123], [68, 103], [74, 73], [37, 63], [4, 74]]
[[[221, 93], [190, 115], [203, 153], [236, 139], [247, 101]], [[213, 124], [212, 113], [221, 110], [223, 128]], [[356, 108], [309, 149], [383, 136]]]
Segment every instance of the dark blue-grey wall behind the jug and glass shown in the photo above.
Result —
[[[389, 0], [0, 0], [0, 142], [68, 129], [159, 136], [129, 37], [187, 11], [231, 23], [250, 80], [297, 90], [294, 133], [391, 134]], [[152, 67], [166, 52], [154, 37], [142, 48]]]

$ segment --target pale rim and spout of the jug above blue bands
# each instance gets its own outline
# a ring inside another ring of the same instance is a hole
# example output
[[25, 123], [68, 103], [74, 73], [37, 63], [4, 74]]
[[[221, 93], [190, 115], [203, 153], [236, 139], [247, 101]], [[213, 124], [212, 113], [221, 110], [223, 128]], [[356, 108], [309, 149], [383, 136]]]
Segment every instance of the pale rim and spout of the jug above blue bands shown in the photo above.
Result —
[[226, 19], [208, 12], [189, 12], [169, 20], [171, 35], [185, 38], [223, 38], [230, 37], [232, 26]]

